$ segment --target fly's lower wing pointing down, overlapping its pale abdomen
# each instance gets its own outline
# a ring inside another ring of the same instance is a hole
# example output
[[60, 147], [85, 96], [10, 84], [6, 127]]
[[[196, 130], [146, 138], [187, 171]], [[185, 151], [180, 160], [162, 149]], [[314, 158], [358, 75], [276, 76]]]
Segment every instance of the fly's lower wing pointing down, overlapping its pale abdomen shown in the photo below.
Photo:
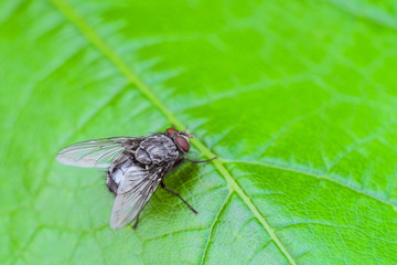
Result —
[[110, 227], [121, 229], [137, 219], [170, 169], [171, 166], [159, 166], [149, 170], [137, 165], [131, 166], [117, 189]]

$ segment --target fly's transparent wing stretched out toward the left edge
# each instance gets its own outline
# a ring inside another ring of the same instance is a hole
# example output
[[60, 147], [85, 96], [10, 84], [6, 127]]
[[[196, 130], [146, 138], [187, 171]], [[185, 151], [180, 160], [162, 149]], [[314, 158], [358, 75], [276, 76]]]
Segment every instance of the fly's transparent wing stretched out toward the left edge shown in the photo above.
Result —
[[108, 168], [128, 146], [140, 138], [115, 137], [89, 140], [65, 147], [56, 156], [58, 162], [82, 168]]

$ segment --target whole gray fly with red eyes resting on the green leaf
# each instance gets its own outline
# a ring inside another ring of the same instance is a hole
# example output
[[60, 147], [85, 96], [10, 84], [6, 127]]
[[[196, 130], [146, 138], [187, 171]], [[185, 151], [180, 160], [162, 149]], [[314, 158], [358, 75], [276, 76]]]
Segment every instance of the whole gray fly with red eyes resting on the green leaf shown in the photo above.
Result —
[[60, 151], [56, 159], [65, 165], [83, 168], [108, 168], [106, 186], [116, 195], [110, 226], [120, 229], [132, 221], [138, 225], [139, 214], [160, 186], [168, 189], [164, 176], [184, 160], [207, 162], [215, 158], [194, 161], [184, 157], [190, 149], [189, 131], [168, 128], [163, 134], [149, 137], [115, 137], [77, 142]]

